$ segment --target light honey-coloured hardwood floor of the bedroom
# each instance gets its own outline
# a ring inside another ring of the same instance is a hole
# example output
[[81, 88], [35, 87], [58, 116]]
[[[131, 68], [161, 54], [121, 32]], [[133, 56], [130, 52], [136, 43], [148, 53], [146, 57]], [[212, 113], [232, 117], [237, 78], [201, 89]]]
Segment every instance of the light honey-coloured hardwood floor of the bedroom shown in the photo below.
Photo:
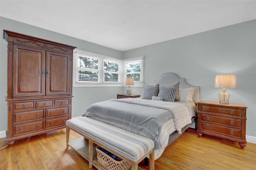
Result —
[[[70, 140], [80, 135], [70, 131]], [[3, 140], [3, 139], [1, 139]], [[6, 142], [1, 143], [1, 148]], [[148, 170], [148, 167], [140, 166]], [[96, 170], [71, 148], [66, 150], [66, 129], [15, 141], [0, 151], [1, 170]], [[185, 131], [155, 161], [155, 170], [256, 170], [256, 144], [244, 150], [236, 142], [209, 135], [198, 138]]]

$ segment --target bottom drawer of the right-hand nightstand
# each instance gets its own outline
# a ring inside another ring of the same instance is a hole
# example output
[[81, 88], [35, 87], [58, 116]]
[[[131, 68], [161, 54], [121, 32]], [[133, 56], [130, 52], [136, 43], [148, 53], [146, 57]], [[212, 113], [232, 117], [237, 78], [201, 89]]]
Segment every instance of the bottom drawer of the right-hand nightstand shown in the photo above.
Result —
[[219, 133], [225, 136], [241, 138], [241, 129], [223, 127], [220, 125], [203, 123], [203, 122], [201, 124], [201, 128], [202, 130], [205, 130], [205, 131], [209, 131], [209, 132], [214, 131], [214, 133]]

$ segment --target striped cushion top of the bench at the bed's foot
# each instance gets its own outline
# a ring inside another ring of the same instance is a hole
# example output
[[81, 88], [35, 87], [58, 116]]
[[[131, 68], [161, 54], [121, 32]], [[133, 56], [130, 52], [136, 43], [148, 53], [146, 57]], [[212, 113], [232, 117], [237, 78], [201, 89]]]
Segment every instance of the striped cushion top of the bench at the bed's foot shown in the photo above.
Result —
[[151, 139], [89, 117], [74, 117], [67, 120], [66, 125], [133, 162], [154, 148]]

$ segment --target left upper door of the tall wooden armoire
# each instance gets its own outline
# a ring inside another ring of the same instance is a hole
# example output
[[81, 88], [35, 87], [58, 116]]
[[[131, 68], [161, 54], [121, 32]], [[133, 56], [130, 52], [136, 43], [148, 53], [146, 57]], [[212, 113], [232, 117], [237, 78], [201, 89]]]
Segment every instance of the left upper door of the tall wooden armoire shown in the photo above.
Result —
[[45, 95], [45, 51], [13, 46], [13, 97]]

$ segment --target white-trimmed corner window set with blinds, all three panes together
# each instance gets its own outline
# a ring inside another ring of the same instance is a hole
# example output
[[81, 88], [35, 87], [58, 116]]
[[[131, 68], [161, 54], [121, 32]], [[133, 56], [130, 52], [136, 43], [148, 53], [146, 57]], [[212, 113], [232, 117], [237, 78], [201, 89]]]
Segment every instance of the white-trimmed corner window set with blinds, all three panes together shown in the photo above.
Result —
[[126, 77], [134, 78], [134, 86], [143, 84], [143, 57], [122, 61], [74, 50], [73, 63], [74, 87], [123, 86]]

